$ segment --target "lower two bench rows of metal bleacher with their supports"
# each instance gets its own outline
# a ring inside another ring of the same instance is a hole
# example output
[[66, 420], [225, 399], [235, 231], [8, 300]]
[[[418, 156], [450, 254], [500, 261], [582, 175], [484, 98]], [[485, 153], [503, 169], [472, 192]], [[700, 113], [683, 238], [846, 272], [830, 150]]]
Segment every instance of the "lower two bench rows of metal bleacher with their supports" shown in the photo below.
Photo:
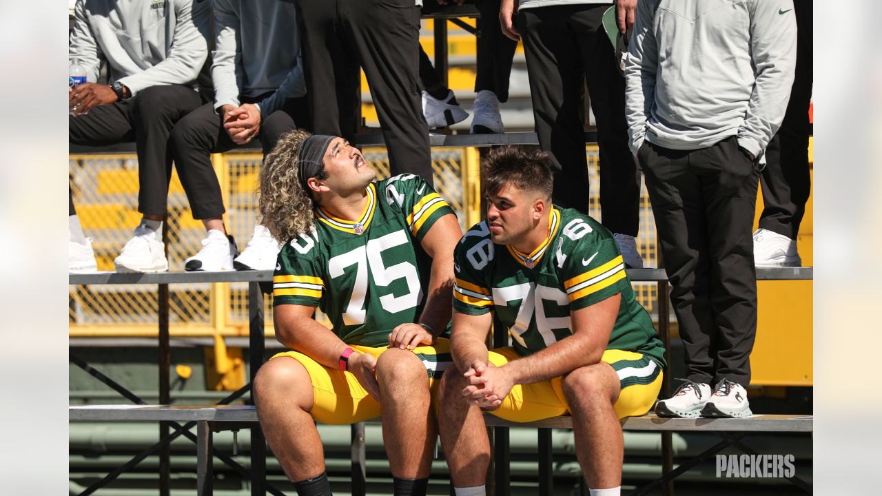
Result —
[[[659, 285], [658, 308], [659, 308], [659, 334], [665, 343], [666, 359], [670, 360], [669, 348], [669, 306], [668, 306], [668, 279], [664, 269], [642, 268], [628, 269], [628, 276], [632, 282], [656, 282]], [[812, 267], [797, 268], [758, 268], [757, 278], [760, 281], [782, 280], [810, 280], [813, 275]], [[160, 274], [70, 274], [71, 285], [86, 284], [157, 284], [159, 288], [159, 375], [160, 375], [160, 403], [166, 407], [146, 406], [137, 396], [127, 391], [124, 387], [109, 379], [101, 372], [94, 370], [90, 365], [71, 354], [71, 361], [80, 368], [93, 375], [108, 387], [130, 400], [135, 405], [145, 405], [143, 408], [124, 409], [119, 406], [86, 406], [70, 407], [71, 420], [101, 420], [101, 421], [140, 421], [160, 422], [161, 440], [136, 455], [122, 467], [112, 471], [107, 477], [86, 488], [82, 495], [91, 494], [103, 485], [113, 480], [124, 470], [136, 465], [146, 458], [147, 455], [159, 452], [161, 457], [160, 479], [161, 493], [168, 493], [168, 447], [171, 440], [183, 435], [197, 444], [198, 457], [198, 494], [211, 494], [211, 460], [210, 454], [218, 456], [230, 467], [239, 471], [244, 477], [250, 479], [251, 494], [264, 495], [266, 492], [281, 494], [273, 486], [265, 481], [265, 439], [259, 425], [257, 415], [253, 407], [229, 407], [218, 408], [216, 405], [203, 407], [168, 407], [169, 397], [169, 369], [171, 367], [169, 333], [168, 333], [168, 284], [192, 283], [192, 282], [248, 282], [249, 302], [249, 342], [250, 342], [250, 379], [253, 380], [264, 355], [264, 296], [269, 292], [269, 284], [272, 282], [272, 271], [247, 271], [247, 272], [167, 272]], [[261, 288], [264, 285], [264, 288]], [[495, 333], [493, 336], [494, 346], [505, 346], [507, 334]], [[669, 390], [669, 376], [665, 375], [664, 388]], [[250, 392], [250, 383], [228, 395], [219, 402], [219, 405], [228, 404]], [[250, 403], [253, 402], [249, 399]], [[509, 437], [508, 429], [512, 425], [496, 417], [488, 416], [487, 425], [493, 430], [493, 464], [491, 470], [493, 477], [488, 481], [496, 487], [497, 495], [509, 494]], [[180, 425], [178, 422], [186, 422]], [[198, 432], [193, 436], [189, 429], [196, 424]], [[248, 425], [251, 432], [251, 470], [246, 470], [233, 462], [228, 456], [214, 451], [211, 444], [213, 431], [230, 430], [241, 425]], [[232, 426], [232, 427], [231, 427]], [[540, 494], [547, 496], [551, 493], [551, 428], [572, 428], [569, 417], [551, 418], [542, 422], [525, 424], [524, 426], [538, 427], [539, 436], [539, 484]], [[755, 416], [746, 419], [660, 419], [654, 416], [629, 418], [624, 421], [625, 430], [657, 431], [662, 432], [662, 477], [640, 488], [634, 494], [645, 494], [647, 491], [662, 485], [664, 494], [673, 494], [671, 481], [684, 473], [698, 462], [707, 457], [719, 453], [729, 446], [740, 447], [747, 453], [750, 448], [740, 444], [741, 438], [749, 432], [811, 432], [812, 418], [802, 416]], [[175, 429], [175, 432], [170, 432]], [[673, 468], [673, 448], [671, 433], [676, 431], [702, 431], [718, 432], [724, 437], [719, 444], [708, 449], [689, 462], [684, 462], [676, 470]], [[365, 450], [364, 450], [364, 426], [356, 424], [352, 426], [352, 494], [365, 493]], [[163, 462], [163, 458], [165, 461]], [[255, 477], [260, 474], [260, 477]], [[811, 492], [811, 486], [801, 479], [792, 477], [791, 482]]]

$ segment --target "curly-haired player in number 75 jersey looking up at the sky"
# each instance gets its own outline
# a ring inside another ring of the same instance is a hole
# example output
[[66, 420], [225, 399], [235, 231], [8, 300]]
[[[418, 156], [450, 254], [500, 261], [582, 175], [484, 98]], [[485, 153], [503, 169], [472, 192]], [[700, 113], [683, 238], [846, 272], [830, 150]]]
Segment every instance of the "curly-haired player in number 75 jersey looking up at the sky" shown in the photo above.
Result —
[[[286, 241], [273, 322], [292, 351], [264, 364], [253, 390], [266, 440], [301, 496], [331, 494], [314, 421], [381, 412], [395, 494], [426, 493], [431, 390], [450, 361], [438, 334], [450, 321], [462, 231], [421, 177], [375, 176], [346, 140], [300, 130], [281, 137], [260, 175], [263, 222]], [[332, 329], [315, 320], [317, 307]]]

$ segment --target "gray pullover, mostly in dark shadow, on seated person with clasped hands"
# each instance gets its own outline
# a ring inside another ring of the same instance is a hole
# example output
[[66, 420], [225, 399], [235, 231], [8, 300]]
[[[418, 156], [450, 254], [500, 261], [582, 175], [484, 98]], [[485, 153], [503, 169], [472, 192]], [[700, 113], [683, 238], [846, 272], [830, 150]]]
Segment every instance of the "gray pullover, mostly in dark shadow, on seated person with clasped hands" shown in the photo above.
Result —
[[214, 109], [240, 96], [275, 93], [258, 102], [269, 116], [306, 94], [295, 6], [280, 0], [214, 0]]

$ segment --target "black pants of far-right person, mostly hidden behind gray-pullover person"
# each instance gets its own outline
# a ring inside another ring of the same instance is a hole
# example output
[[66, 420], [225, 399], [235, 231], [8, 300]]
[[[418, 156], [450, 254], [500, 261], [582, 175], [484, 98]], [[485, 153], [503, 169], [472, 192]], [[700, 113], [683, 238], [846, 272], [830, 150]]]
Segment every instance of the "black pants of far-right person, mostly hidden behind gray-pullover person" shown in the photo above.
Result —
[[811, 2], [793, 3], [796, 12], [796, 78], [781, 129], [766, 147], [766, 169], [760, 176], [763, 212], [759, 227], [791, 239], [799, 234], [805, 202], [811, 192], [809, 172], [809, 105], [811, 104]]

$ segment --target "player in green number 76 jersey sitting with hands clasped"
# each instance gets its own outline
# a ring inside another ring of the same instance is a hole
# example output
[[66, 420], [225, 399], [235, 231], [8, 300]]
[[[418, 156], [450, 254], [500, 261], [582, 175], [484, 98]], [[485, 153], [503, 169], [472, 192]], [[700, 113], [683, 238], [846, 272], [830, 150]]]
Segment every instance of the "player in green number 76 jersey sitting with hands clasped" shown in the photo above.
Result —
[[[487, 220], [453, 256], [451, 353], [440, 434], [455, 494], [483, 496], [490, 444], [481, 410], [512, 422], [571, 415], [591, 494], [619, 493], [619, 418], [652, 408], [664, 345], [615, 238], [551, 203], [551, 156], [502, 147], [482, 163]], [[487, 349], [490, 328], [512, 347]], [[601, 491], [601, 492], [597, 492]]]

